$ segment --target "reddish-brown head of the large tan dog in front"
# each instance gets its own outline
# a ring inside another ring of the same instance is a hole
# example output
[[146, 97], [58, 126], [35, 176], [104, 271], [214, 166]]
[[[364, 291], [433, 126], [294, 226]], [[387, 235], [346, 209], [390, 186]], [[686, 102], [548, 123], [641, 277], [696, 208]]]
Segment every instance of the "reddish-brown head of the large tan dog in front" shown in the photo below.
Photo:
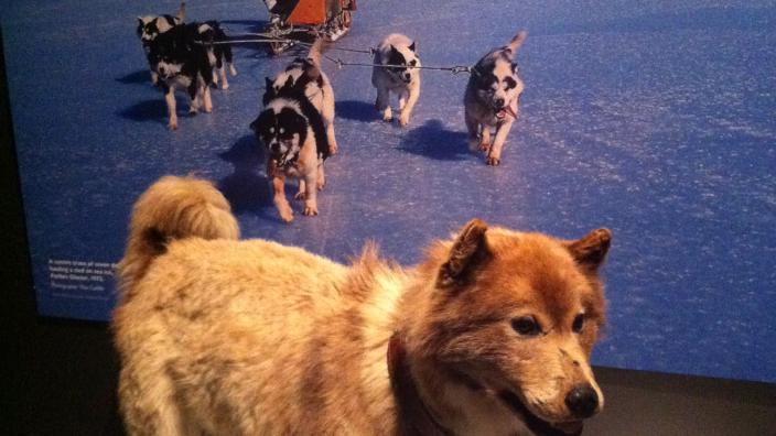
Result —
[[597, 271], [611, 238], [599, 229], [564, 241], [471, 221], [421, 266], [430, 287], [407, 333], [410, 353], [505, 411], [579, 430], [604, 403], [589, 359], [604, 325]]

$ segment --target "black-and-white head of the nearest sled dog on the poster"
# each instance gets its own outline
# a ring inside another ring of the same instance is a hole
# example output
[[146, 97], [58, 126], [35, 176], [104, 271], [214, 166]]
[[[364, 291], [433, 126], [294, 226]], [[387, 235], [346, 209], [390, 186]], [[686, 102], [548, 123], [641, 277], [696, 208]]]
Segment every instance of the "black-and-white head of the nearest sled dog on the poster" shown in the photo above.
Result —
[[308, 138], [309, 122], [294, 99], [276, 97], [250, 123], [250, 129], [270, 159], [282, 167], [297, 161]]

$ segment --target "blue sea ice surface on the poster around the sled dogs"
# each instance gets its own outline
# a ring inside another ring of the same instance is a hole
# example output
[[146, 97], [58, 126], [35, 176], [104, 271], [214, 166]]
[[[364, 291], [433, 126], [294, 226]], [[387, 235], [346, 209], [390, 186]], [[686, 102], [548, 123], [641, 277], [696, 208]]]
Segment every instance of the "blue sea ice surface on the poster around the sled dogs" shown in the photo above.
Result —
[[[56, 293], [46, 262], [116, 262], [136, 197], [164, 174], [218, 183], [246, 238], [347, 261], [367, 239], [417, 262], [479, 217], [574, 238], [614, 231], [601, 366], [776, 382], [776, 7], [772, 1], [358, 2], [341, 47], [391, 32], [424, 65], [471, 65], [519, 29], [521, 118], [499, 167], [467, 151], [465, 75], [423, 72], [411, 126], [380, 121], [370, 69], [325, 65], [340, 153], [321, 215], [278, 218], [248, 129], [290, 55], [236, 48], [212, 115], [165, 129], [134, 17], [176, 1], [6, 1], [2, 32], [34, 279], [45, 315], [107, 319], [112, 290]], [[259, 1], [188, 2], [188, 20], [260, 31]], [[330, 51], [344, 61], [369, 56]], [[395, 103], [396, 105], [396, 103]], [[292, 193], [291, 189], [289, 189]]]

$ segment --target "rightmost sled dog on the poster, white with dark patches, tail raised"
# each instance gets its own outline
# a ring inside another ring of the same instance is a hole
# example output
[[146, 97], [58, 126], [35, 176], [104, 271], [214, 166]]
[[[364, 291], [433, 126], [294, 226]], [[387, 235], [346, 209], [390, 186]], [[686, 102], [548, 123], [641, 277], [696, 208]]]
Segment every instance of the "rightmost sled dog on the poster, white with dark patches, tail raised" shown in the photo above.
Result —
[[[511, 124], [519, 113], [519, 99], [524, 89], [518, 76], [515, 55], [528, 35], [521, 31], [508, 45], [483, 56], [472, 70], [466, 85], [464, 108], [466, 129], [472, 150], [487, 153], [486, 163], [498, 165], [502, 149]], [[491, 129], [496, 129], [491, 144]]]

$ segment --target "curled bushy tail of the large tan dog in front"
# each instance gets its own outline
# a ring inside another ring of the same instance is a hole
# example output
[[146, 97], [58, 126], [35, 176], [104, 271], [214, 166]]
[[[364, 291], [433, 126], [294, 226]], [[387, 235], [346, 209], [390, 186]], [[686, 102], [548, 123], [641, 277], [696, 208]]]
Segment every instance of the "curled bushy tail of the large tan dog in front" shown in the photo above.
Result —
[[239, 227], [229, 201], [212, 183], [165, 176], [149, 187], [132, 207], [127, 251], [118, 265], [121, 301], [131, 298], [134, 283], [174, 239], [237, 239]]

